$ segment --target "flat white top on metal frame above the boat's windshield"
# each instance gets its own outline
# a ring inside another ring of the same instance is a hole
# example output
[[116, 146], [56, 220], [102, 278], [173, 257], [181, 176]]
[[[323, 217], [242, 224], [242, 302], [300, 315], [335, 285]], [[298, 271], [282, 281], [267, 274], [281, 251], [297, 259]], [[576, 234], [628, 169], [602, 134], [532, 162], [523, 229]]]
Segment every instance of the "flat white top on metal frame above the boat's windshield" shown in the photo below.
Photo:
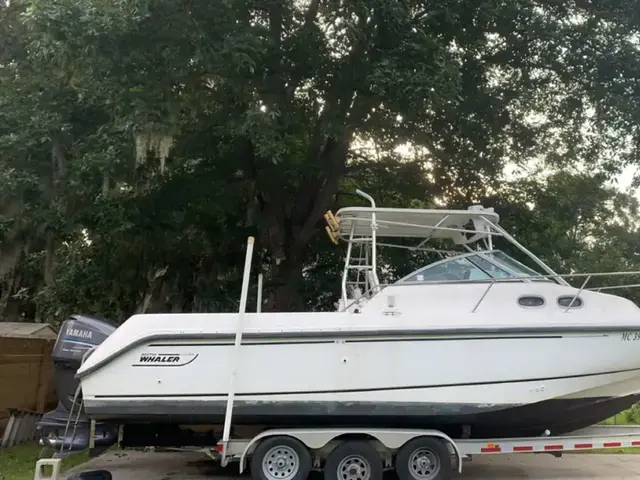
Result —
[[[466, 243], [462, 232], [432, 228], [436, 225], [445, 228], [467, 230], [484, 230], [482, 217], [493, 223], [500, 221], [500, 216], [493, 208], [481, 206], [470, 207], [471, 210], [422, 210], [413, 208], [341, 208], [335, 217], [340, 225], [340, 237], [348, 240], [352, 226], [355, 226], [354, 237], [371, 236], [371, 213], [375, 212], [379, 237], [406, 238], [449, 238], [456, 243]], [[443, 221], [443, 219], [445, 219]], [[467, 225], [474, 222], [473, 227]], [[389, 222], [389, 223], [387, 223]], [[391, 223], [393, 222], [393, 223]], [[442, 222], [442, 223], [440, 223]], [[431, 227], [431, 228], [430, 228]]]

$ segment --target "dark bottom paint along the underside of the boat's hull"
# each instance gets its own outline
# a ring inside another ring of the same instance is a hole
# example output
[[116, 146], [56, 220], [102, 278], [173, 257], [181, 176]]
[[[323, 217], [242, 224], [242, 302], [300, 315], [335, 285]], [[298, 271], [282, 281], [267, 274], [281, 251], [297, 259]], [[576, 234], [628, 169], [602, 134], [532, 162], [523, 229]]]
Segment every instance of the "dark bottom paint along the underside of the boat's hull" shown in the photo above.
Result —
[[[463, 426], [472, 438], [543, 435], [546, 429], [560, 435], [585, 428], [629, 408], [639, 395], [553, 399], [527, 405], [468, 405], [355, 402], [238, 401], [234, 425], [289, 427], [433, 428], [459, 438]], [[145, 402], [94, 402], [87, 413], [97, 420], [123, 424], [221, 424], [225, 400]]]

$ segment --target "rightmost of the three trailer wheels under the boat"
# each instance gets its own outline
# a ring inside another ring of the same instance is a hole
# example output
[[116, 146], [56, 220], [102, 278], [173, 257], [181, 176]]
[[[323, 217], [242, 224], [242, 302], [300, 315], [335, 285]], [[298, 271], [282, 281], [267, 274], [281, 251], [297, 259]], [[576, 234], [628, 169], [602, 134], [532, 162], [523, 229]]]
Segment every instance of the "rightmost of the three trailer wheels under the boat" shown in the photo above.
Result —
[[407, 480], [449, 480], [451, 453], [442, 440], [414, 438], [398, 451], [396, 473], [399, 478]]

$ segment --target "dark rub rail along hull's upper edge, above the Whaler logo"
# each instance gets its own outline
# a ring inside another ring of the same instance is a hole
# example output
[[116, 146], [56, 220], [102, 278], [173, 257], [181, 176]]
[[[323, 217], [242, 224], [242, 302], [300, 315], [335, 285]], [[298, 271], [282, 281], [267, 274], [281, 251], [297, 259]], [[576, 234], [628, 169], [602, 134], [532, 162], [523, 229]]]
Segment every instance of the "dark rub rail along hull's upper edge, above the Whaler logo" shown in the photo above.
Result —
[[[637, 329], [640, 332], [640, 325], [638, 325]], [[495, 336], [509, 336], [509, 335], [519, 335], [519, 336], [532, 336], [533, 338], [539, 339], [548, 339], [549, 335], [555, 334], [563, 336], [563, 334], [599, 334], [606, 335], [614, 332], [630, 332], [634, 331], [634, 328], [630, 326], [544, 326], [544, 327], [501, 327], [501, 328], [447, 328], [447, 329], [419, 329], [419, 330], [407, 330], [407, 329], [396, 329], [396, 330], [353, 330], [353, 331], [300, 331], [300, 332], [278, 332], [278, 333], [256, 333], [256, 332], [246, 332], [243, 333], [244, 339], [274, 339], [276, 341], [282, 341], [283, 339], [307, 339], [313, 341], [319, 340], [329, 340], [329, 339], [340, 339], [340, 340], [348, 340], [348, 339], [371, 339], [371, 340], [381, 340], [385, 339], [385, 341], [392, 341], [392, 338], [406, 339], [407, 337], [430, 337], [430, 338], [442, 338], [447, 336], [460, 336], [462, 338], [455, 338], [452, 340], [462, 340], [463, 338], [474, 336], [478, 340], [482, 340], [482, 336], [478, 335], [487, 335], [490, 338]], [[362, 337], [362, 338], [358, 338]], [[510, 339], [512, 337], [507, 337], [505, 339]], [[555, 337], [551, 337], [555, 338]], [[148, 337], [139, 338], [119, 350], [107, 355], [102, 360], [98, 361], [95, 365], [87, 368], [81, 374], [78, 373], [76, 378], [83, 378], [96, 370], [102, 368], [107, 363], [111, 362], [115, 358], [123, 355], [124, 353], [132, 350], [133, 348], [144, 345], [149, 342], [159, 342], [164, 340], [176, 340], [185, 341], [185, 340], [215, 340], [215, 341], [224, 341], [235, 339], [235, 333], [197, 333], [197, 334], [166, 334], [166, 333], [158, 333], [149, 335]], [[294, 342], [291, 342], [294, 343]], [[301, 342], [304, 343], [304, 342]]]

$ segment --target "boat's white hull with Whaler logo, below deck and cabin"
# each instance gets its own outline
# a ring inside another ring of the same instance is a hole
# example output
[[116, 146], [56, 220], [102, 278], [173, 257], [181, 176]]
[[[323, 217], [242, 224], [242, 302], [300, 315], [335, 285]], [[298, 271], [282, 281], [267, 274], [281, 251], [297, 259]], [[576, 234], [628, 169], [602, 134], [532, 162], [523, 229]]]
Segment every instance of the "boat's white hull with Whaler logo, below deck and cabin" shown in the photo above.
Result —
[[629, 341], [640, 339], [635, 329], [336, 331], [331, 321], [351, 317], [327, 316], [324, 331], [283, 333], [284, 320], [277, 330], [267, 316], [261, 331], [247, 318], [236, 357], [235, 335], [223, 331], [235, 317], [188, 318], [190, 331], [171, 330], [168, 318], [166, 325], [164, 317], [140, 318], [109, 337], [78, 372], [87, 414], [120, 423], [219, 424], [236, 358], [235, 425], [561, 434], [613, 416], [640, 393], [640, 341]]

